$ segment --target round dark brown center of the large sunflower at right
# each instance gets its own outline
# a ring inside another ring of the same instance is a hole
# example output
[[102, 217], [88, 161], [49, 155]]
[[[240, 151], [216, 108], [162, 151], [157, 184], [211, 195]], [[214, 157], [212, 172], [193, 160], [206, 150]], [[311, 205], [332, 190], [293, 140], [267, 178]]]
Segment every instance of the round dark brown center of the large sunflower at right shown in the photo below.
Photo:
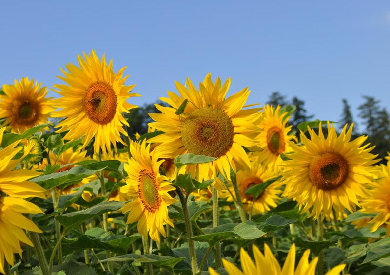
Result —
[[349, 167], [338, 153], [323, 152], [309, 164], [309, 179], [319, 189], [332, 190], [345, 182]]

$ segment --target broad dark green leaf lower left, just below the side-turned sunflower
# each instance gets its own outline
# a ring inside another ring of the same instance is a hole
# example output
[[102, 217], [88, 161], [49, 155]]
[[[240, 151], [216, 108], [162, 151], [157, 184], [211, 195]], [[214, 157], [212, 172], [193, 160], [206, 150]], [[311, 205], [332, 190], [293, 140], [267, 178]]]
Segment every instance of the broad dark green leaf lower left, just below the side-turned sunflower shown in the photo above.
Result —
[[132, 236], [115, 235], [104, 231], [102, 228], [95, 227], [85, 231], [83, 236], [68, 244], [67, 247], [76, 250], [95, 248], [126, 254], [130, 245], [139, 238], [141, 238], [140, 234]]

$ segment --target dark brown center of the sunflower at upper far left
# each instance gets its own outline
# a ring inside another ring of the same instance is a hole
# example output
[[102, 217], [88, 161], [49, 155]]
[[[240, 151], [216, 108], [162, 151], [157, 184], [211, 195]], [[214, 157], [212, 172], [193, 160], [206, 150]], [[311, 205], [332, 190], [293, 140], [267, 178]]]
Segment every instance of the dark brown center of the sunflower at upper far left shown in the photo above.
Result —
[[32, 125], [37, 120], [39, 106], [36, 102], [31, 100], [16, 101], [15, 109], [13, 111], [14, 119], [21, 125]]

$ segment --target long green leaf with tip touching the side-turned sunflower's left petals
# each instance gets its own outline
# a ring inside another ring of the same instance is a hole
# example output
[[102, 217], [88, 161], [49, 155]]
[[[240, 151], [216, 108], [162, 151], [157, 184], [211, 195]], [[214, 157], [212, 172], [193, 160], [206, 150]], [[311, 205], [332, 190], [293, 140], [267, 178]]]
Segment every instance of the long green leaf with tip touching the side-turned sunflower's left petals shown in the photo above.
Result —
[[56, 217], [56, 220], [58, 220], [64, 227], [69, 227], [75, 223], [94, 218], [103, 213], [116, 211], [122, 208], [124, 203], [125, 202], [116, 201], [102, 202], [86, 210], [59, 215]]

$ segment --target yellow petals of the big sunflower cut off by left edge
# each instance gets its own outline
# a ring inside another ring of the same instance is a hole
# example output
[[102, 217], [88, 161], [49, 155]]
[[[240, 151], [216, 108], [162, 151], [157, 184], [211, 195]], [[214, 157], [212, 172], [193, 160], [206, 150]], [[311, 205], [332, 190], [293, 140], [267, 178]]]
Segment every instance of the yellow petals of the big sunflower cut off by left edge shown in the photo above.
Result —
[[[0, 129], [0, 144], [5, 127]], [[31, 170], [13, 170], [20, 162], [14, 159], [22, 147], [15, 148], [15, 142], [0, 150], [0, 272], [4, 272], [4, 258], [6, 262], [14, 264], [14, 253], [21, 257], [20, 242], [33, 246], [23, 229], [41, 232], [39, 228], [22, 214], [42, 213], [38, 206], [24, 200], [24, 198], [45, 198], [46, 191], [36, 183], [28, 179], [38, 176], [40, 173]]]

